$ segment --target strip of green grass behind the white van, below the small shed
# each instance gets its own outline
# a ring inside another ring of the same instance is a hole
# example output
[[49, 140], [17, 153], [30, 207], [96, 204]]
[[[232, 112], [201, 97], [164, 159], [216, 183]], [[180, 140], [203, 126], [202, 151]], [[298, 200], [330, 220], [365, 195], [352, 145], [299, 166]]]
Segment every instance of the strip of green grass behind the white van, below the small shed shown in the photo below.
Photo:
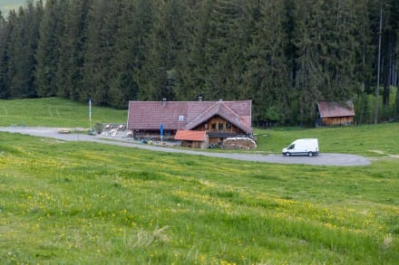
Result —
[[394, 132], [399, 124], [365, 125], [361, 127], [336, 128], [277, 128], [275, 130], [256, 130], [258, 149], [265, 152], [281, 152], [297, 138], [316, 137], [321, 152], [349, 153], [364, 156], [399, 155], [399, 144]]

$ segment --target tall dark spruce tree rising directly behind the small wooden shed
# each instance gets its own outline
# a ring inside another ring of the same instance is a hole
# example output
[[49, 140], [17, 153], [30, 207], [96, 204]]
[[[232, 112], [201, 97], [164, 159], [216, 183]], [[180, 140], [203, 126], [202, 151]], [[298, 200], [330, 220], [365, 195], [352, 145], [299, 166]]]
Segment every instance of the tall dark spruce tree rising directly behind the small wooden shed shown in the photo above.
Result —
[[354, 1], [326, 1], [321, 5], [323, 30], [319, 63], [324, 80], [320, 88], [324, 99], [345, 101], [351, 99], [355, 83], [355, 52], [360, 43], [355, 39]]

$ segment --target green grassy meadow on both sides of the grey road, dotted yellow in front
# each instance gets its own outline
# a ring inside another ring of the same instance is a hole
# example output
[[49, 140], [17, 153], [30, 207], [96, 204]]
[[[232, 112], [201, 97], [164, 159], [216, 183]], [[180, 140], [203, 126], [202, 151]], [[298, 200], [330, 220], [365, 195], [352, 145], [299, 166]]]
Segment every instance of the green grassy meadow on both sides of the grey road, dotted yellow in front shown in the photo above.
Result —
[[[126, 120], [123, 110], [92, 115]], [[85, 127], [87, 117], [87, 106], [63, 99], [0, 101], [2, 126]], [[318, 137], [324, 152], [374, 159], [348, 167], [0, 133], [0, 263], [396, 264], [398, 131], [257, 130], [255, 152]]]

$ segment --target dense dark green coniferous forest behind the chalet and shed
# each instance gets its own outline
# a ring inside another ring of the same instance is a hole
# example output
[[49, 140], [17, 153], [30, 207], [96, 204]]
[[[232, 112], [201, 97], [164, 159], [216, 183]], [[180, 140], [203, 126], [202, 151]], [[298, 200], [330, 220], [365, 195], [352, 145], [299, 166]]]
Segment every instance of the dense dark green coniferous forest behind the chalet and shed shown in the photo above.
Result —
[[[318, 100], [398, 119], [399, 0], [28, 0], [0, 14], [0, 99], [252, 99], [254, 126]], [[378, 85], [377, 85], [378, 84]], [[378, 97], [377, 97], [378, 95]]]

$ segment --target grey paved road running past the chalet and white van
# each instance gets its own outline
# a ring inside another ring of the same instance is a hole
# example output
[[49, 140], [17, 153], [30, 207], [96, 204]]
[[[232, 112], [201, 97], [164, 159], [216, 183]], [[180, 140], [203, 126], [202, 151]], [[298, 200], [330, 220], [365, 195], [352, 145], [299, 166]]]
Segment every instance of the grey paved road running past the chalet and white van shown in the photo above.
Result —
[[28, 128], [28, 127], [7, 127], [0, 128], [0, 131], [20, 133], [24, 135], [31, 135], [35, 137], [51, 137], [65, 141], [92, 141], [102, 144], [109, 144], [121, 147], [135, 147], [153, 151], [168, 152], [168, 153], [185, 153], [197, 156], [213, 156], [228, 159], [237, 159], [244, 161], [254, 161], [263, 163], [277, 163], [277, 164], [303, 164], [315, 166], [367, 166], [371, 162], [364, 156], [355, 156], [347, 154], [331, 154], [320, 153], [318, 156], [282, 156], [282, 155], [260, 155], [248, 153], [212, 153], [203, 152], [199, 150], [187, 150], [172, 147], [157, 147], [151, 145], [143, 145], [131, 139], [122, 137], [98, 137], [84, 134], [59, 134], [58, 128]]

